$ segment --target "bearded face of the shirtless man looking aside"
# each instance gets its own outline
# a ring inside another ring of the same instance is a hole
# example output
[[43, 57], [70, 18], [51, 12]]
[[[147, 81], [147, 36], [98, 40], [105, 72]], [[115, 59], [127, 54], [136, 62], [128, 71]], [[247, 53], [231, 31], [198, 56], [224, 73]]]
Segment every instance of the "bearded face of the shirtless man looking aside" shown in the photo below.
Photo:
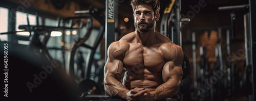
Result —
[[150, 5], [139, 5], [134, 11], [134, 26], [139, 32], [147, 32], [154, 29], [158, 16], [154, 16], [154, 10]]

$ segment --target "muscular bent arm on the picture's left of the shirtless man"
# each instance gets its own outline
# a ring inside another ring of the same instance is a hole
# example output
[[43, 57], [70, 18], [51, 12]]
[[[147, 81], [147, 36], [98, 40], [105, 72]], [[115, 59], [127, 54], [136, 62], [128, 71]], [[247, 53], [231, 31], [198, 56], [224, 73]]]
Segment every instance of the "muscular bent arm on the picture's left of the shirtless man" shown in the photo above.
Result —
[[126, 42], [114, 42], [108, 49], [108, 59], [104, 67], [104, 89], [112, 96], [126, 99], [129, 90], [120, 83], [124, 70], [122, 59], [125, 56], [129, 44]]

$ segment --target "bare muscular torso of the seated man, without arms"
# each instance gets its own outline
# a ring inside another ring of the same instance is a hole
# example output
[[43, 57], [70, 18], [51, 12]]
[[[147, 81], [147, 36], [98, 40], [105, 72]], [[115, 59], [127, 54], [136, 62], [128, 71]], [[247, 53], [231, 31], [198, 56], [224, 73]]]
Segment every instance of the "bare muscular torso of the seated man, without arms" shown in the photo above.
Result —
[[126, 70], [123, 85], [127, 89], [143, 87], [148, 91], [154, 91], [164, 83], [162, 68], [166, 58], [164, 58], [161, 48], [164, 47], [164, 44], [172, 42], [161, 33], [156, 34], [156, 43], [149, 46], [143, 46], [134, 39], [135, 33], [132, 32], [120, 40], [123, 41], [122, 43], [127, 44], [122, 60], [124, 70]]

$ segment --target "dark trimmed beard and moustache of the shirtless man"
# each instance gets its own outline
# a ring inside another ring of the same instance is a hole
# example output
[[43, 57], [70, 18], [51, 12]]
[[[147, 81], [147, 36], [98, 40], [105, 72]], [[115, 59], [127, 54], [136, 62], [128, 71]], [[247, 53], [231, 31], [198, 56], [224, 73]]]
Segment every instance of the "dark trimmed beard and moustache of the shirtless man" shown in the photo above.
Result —
[[[139, 27], [139, 25], [140, 24], [146, 24], [147, 26], [145, 27], [145, 28], [140, 28]], [[146, 23], [146, 22], [140, 22], [140, 23], [138, 23], [138, 24], [136, 24], [135, 22], [134, 22], [134, 25], [135, 25], [135, 27], [137, 28], [137, 30], [139, 31], [139, 32], [147, 32], [147, 31], [150, 31], [151, 29], [153, 29], [154, 28], [154, 22], [152, 22], [152, 23]]]

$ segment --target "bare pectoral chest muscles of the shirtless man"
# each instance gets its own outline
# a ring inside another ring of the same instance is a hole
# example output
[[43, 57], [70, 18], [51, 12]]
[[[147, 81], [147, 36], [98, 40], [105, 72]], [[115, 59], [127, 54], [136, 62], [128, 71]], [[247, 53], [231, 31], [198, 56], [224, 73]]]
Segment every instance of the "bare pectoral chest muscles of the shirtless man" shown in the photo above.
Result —
[[150, 71], [160, 72], [165, 61], [159, 46], [143, 47], [131, 44], [129, 52], [123, 59], [124, 68], [137, 70], [147, 68]]

